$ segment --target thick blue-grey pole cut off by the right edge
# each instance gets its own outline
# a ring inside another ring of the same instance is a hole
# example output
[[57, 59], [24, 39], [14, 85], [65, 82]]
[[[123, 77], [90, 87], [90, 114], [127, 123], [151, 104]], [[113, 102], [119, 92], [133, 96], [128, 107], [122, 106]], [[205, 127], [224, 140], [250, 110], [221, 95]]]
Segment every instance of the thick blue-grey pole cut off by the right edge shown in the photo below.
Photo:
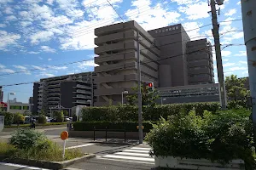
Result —
[[[256, 2], [255, 0], [241, 1], [241, 14], [244, 32], [244, 42], [247, 46], [247, 63], [253, 108], [253, 127], [256, 134]], [[254, 141], [255, 135], [254, 135]]]

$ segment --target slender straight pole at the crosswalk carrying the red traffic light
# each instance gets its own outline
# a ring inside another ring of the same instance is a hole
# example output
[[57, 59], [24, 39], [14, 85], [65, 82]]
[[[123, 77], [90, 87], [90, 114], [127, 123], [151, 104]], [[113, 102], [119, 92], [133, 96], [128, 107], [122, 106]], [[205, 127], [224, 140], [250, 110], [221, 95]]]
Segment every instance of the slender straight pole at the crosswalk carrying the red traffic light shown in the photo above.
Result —
[[138, 130], [139, 130], [139, 144], [143, 144], [143, 102], [142, 102], [142, 74], [141, 74], [141, 60], [140, 60], [140, 42], [139, 31], [137, 31], [137, 108], [138, 108]]

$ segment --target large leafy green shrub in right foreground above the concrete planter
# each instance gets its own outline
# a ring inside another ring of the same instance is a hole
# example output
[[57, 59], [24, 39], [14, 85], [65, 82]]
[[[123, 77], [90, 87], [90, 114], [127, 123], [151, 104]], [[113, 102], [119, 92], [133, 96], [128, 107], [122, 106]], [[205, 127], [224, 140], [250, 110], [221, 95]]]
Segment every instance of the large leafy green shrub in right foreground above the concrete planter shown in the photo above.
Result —
[[146, 141], [153, 148], [153, 156], [179, 156], [205, 158], [228, 163], [242, 159], [247, 169], [253, 169], [253, 124], [247, 110], [204, 111], [195, 110], [177, 116], [162, 118], [147, 134]]

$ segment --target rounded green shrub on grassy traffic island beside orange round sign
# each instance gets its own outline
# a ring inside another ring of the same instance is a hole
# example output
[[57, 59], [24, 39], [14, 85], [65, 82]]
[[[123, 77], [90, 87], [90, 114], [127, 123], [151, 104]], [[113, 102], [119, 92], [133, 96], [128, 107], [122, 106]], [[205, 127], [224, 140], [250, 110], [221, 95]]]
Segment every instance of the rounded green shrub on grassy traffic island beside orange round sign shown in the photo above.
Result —
[[44, 133], [32, 129], [18, 129], [12, 134], [9, 139], [9, 144], [15, 145], [20, 150], [26, 150], [29, 147], [34, 147], [39, 141], [46, 139]]

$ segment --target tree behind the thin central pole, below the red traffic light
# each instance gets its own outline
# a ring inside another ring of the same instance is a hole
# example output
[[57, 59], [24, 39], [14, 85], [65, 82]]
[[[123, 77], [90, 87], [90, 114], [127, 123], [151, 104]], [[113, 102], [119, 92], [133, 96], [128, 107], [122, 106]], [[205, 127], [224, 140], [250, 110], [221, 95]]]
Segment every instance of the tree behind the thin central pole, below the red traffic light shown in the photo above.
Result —
[[[132, 88], [134, 92], [138, 91], [138, 86]], [[142, 102], [143, 105], [154, 105], [156, 99], [160, 99], [159, 92], [157, 90], [154, 90], [154, 93], [152, 94], [146, 94], [147, 89], [143, 88], [142, 85]], [[137, 94], [130, 94], [127, 95], [127, 100], [129, 105], [137, 105]]]

